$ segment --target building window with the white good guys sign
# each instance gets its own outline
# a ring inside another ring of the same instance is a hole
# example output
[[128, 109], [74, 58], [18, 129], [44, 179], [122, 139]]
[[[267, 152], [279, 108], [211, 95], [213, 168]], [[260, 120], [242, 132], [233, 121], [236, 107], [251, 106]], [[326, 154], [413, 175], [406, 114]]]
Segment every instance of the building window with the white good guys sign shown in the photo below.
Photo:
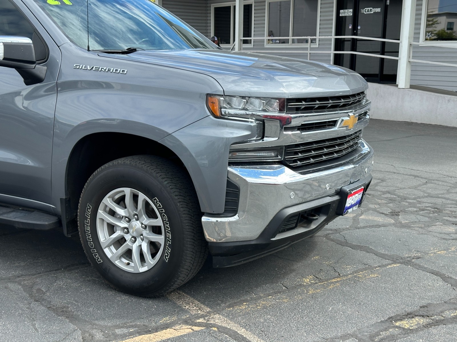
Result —
[[[268, 44], [304, 44], [306, 38], [274, 37], [316, 36], [318, 27], [318, 0], [271, 0], [267, 2]], [[311, 39], [316, 42], [315, 38]]]

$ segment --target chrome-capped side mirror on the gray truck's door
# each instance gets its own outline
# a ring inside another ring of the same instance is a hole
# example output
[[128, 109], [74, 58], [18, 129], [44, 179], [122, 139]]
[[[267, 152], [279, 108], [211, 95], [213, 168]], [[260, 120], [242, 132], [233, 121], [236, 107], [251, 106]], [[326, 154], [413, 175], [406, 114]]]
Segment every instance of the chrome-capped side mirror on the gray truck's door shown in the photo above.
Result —
[[16, 69], [26, 85], [41, 83], [46, 76], [46, 67], [37, 64], [32, 40], [27, 37], [0, 36], [0, 67]]

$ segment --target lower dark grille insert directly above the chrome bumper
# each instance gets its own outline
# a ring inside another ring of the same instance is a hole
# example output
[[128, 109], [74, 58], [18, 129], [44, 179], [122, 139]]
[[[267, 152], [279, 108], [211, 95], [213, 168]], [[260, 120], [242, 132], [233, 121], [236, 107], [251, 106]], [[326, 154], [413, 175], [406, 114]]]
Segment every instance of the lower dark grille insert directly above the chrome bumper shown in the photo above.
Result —
[[287, 145], [284, 162], [292, 167], [304, 166], [338, 158], [355, 150], [360, 145], [362, 131], [350, 135], [303, 144]]

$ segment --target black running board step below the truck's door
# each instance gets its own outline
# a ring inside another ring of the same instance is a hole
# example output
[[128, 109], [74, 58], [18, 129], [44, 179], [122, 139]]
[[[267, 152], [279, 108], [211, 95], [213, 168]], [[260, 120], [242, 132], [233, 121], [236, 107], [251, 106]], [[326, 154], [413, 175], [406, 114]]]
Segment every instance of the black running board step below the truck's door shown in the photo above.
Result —
[[48, 230], [60, 226], [60, 219], [44, 212], [0, 207], [0, 224], [16, 228]]

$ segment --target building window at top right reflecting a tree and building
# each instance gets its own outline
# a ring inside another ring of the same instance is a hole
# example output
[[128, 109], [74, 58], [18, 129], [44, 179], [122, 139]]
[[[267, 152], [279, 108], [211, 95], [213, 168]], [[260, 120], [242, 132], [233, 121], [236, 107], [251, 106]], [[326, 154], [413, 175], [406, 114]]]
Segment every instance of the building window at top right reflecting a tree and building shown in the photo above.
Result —
[[457, 20], [457, 0], [429, 0], [426, 9], [424, 41], [457, 41], [454, 22]]

